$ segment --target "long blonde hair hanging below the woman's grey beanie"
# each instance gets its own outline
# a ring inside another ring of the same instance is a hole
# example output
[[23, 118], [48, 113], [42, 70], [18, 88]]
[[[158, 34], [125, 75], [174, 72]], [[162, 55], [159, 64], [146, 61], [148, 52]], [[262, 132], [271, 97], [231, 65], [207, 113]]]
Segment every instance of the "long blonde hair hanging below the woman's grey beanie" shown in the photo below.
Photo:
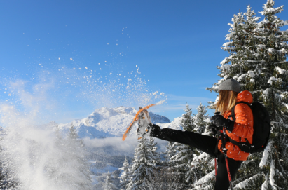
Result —
[[[231, 92], [231, 97], [228, 100], [229, 93]], [[224, 114], [225, 111], [230, 111], [236, 104], [238, 93], [234, 91], [228, 90], [220, 90], [219, 91], [219, 100], [216, 104], [214, 104], [215, 111], [220, 111], [220, 114]], [[228, 105], [226, 104], [228, 100]]]

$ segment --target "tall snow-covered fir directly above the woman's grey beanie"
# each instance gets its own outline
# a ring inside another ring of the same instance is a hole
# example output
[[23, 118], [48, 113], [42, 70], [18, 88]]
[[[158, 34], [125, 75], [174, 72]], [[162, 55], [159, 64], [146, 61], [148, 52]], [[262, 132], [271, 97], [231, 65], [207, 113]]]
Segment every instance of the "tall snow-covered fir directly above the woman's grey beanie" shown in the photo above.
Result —
[[[230, 56], [226, 57], [221, 66], [218, 66], [222, 79], [214, 83], [212, 88], [207, 90], [217, 92], [218, 86], [226, 79], [234, 78], [242, 81], [241, 88], [248, 88], [250, 82], [254, 82], [254, 77], [258, 74], [258, 64], [256, 49], [258, 48], [258, 38], [255, 36], [254, 29], [258, 26], [259, 17], [247, 6], [246, 13], [238, 13], [232, 18], [232, 24], [229, 23], [229, 34], [226, 35], [228, 42], [221, 47], [227, 51]], [[254, 70], [256, 69], [256, 73]], [[252, 80], [251, 80], [252, 79]], [[252, 90], [249, 88], [249, 90]]]

